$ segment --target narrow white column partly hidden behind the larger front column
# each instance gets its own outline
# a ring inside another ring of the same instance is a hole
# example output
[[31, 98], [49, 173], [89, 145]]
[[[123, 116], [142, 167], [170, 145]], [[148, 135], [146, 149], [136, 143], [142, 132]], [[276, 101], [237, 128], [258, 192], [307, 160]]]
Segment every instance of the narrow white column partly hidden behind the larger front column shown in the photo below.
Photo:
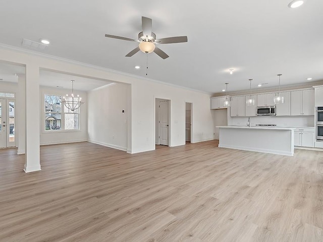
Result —
[[18, 77], [18, 92], [16, 94], [16, 116], [17, 128], [17, 147], [18, 155], [25, 154], [26, 150], [26, 75], [19, 75]]

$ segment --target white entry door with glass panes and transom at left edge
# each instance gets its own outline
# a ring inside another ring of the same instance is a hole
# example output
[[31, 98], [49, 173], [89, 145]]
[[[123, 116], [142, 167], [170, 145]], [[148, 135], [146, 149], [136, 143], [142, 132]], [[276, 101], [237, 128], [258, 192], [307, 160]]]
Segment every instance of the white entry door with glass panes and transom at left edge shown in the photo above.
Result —
[[0, 148], [15, 147], [15, 99], [11, 99], [14, 93], [0, 92], [0, 96]]

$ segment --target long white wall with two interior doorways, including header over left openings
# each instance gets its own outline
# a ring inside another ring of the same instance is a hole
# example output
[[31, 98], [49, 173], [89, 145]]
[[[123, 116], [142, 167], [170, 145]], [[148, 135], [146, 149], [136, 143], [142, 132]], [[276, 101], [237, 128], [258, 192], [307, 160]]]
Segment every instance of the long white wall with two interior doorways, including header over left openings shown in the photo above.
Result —
[[[171, 146], [185, 144], [185, 102], [193, 103], [192, 142], [213, 139], [214, 128], [209, 107], [209, 94], [4, 45], [0, 45], [0, 61], [26, 65], [27, 73], [28, 69], [41, 68], [131, 84], [130, 119], [132, 122], [128, 127], [128, 137], [131, 139], [128, 143], [129, 152], [137, 153], [155, 148], [155, 98], [171, 100]], [[28, 75], [26, 79], [33, 82]], [[34, 82], [38, 83], [39, 80], [34, 80]], [[26, 85], [31, 84], [27, 82]], [[30, 108], [32, 107], [26, 107], [27, 112]], [[36, 148], [34, 149], [38, 152]]]

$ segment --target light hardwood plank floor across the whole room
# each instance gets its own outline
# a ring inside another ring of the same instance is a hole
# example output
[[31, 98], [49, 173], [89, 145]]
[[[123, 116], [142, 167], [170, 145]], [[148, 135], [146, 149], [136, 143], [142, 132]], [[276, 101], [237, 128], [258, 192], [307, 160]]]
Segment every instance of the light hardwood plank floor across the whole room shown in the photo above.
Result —
[[323, 241], [323, 152], [217, 145], [0, 150], [0, 241]]

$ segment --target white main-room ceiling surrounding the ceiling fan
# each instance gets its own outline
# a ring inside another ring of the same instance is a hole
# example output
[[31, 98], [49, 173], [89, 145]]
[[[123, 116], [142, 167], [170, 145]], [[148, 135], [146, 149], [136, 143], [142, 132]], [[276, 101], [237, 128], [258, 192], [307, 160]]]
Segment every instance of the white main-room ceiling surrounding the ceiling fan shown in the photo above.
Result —
[[[187, 43], [159, 45], [170, 55], [148, 55], [148, 78], [218, 93], [253, 86], [323, 80], [323, 1], [297, 9], [289, 0], [177, 1], [6, 1], [0, 8], [0, 43], [22, 47], [23, 38], [50, 40], [42, 53], [146, 77], [146, 56], [129, 42], [104, 34], [136, 38], [141, 16], [153, 20], [157, 38], [188, 36]], [[23, 48], [23, 47], [22, 47]], [[136, 70], [134, 66], [141, 69]], [[235, 69], [233, 75], [228, 70]]]

